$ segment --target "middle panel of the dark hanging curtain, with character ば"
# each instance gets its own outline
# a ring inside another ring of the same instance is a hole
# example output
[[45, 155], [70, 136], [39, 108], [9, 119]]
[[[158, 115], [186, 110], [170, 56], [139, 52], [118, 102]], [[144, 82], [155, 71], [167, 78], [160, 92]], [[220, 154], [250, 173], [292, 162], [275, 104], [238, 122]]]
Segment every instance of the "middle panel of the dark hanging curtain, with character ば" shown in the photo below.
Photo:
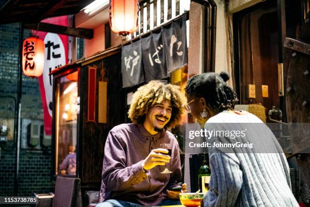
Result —
[[168, 76], [162, 33], [151, 33], [148, 38], [141, 40], [146, 82], [163, 79]]

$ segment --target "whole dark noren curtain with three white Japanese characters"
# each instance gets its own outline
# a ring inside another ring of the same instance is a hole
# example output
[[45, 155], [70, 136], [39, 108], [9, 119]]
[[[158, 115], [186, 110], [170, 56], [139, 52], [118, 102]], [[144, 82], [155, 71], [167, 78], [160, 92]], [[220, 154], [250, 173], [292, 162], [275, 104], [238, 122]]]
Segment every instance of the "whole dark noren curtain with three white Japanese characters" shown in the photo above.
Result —
[[167, 78], [187, 65], [186, 16], [122, 48], [123, 88]]

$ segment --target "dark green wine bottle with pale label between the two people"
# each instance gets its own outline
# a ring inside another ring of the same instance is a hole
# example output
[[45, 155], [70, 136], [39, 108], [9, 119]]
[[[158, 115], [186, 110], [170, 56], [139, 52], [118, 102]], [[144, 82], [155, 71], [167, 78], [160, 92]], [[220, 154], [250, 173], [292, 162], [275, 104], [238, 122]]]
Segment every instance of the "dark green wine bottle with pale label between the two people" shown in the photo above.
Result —
[[203, 162], [198, 170], [198, 185], [202, 193], [209, 190], [209, 182], [211, 178], [211, 170], [207, 162], [207, 154], [202, 155]]

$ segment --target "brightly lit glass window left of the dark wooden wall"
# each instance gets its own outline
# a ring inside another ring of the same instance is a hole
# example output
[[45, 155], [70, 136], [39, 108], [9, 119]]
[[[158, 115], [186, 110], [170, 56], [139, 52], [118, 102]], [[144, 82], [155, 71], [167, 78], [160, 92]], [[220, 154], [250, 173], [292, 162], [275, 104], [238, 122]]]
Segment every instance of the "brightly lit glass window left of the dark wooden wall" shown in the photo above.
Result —
[[75, 175], [78, 72], [56, 80], [55, 174]]

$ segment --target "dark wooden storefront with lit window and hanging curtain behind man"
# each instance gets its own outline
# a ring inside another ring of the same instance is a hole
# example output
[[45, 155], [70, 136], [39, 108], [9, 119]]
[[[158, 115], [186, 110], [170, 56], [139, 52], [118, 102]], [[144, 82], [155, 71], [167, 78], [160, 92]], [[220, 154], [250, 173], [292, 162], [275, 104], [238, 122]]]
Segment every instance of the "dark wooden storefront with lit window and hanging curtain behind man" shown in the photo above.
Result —
[[[80, 178], [83, 195], [85, 191], [100, 189], [106, 137], [114, 126], [130, 122], [128, 110], [133, 92], [155, 79], [184, 89], [187, 81], [187, 20], [188, 12], [174, 19], [170, 17], [152, 32], [146, 31], [120, 46], [52, 71], [55, 103], [53, 179], [57, 176]], [[170, 55], [168, 46], [173, 41], [173, 54]], [[150, 47], [145, 48], [148, 45]], [[168, 58], [173, 61], [168, 62]], [[168, 72], [169, 64], [172, 69]], [[162, 68], [161, 73], [158, 68]], [[182, 146], [182, 127], [172, 132]], [[75, 172], [63, 171], [66, 157], [71, 156], [72, 159], [74, 154], [76, 163], [72, 166]], [[181, 156], [184, 160], [184, 154]]]

